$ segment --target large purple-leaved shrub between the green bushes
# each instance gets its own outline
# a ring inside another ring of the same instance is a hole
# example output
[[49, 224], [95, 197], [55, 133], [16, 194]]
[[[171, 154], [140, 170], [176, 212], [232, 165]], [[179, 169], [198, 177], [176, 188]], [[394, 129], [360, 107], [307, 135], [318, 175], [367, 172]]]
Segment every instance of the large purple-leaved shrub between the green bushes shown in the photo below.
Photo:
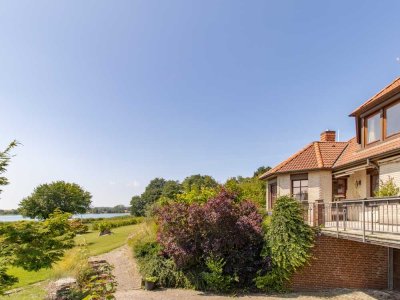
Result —
[[223, 189], [205, 204], [172, 203], [157, 216], [163, 254], [181, 270], [200, 274], [208, 259], [219, 259], [237, 287], [249, 287], [257, 271], [269, 268], [261, 255], [262, 216], [251, 201], [238, 202]]

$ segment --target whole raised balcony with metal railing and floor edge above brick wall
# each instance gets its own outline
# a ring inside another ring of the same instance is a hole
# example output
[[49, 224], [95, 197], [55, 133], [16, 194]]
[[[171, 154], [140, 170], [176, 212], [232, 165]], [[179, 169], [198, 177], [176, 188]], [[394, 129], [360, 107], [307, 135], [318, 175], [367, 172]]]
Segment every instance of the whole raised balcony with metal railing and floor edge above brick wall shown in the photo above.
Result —
[[400, 248], [400, 197], [303, 204], [325, 235]]

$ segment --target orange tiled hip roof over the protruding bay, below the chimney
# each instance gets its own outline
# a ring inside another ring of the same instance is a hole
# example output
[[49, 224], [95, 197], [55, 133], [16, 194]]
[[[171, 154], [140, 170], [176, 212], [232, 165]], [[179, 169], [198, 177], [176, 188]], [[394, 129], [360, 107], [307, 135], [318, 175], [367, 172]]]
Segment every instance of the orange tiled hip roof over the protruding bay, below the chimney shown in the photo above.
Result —
[[260, 176], [261, 179], [279, 173], [332, 168], [347, 142], [313, 142]]

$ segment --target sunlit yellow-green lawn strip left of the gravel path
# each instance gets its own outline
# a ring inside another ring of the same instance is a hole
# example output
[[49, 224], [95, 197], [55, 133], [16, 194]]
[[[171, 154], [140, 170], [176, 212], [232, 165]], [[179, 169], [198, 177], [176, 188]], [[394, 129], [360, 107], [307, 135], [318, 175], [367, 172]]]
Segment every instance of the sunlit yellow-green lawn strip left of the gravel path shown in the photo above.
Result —
[[12, 288], [24, 287], [47, 279], [73, 275], [76, 264], [79, 263], [79, 254], [82, 251], [82, 248], [80, 247], [81, 245], [86, 243], [89, 256], [109, 252], [115, 248], [123, 246], [126, 243], [129, 235], [135, 231], [135, 227], [138, 225], [140, 224], [114, 228], [112, 229], [113, 234], [101, 237], [99, 236], [98, 231], [77, 236], [75, 238], [75, 248], [67, 251], [63, 260], [58, 262], [53, 269], [43, 269], [38, 272], [28, 272], [22, 268], [10, 268], [9, 274], [19, 278], [19, 282]]

